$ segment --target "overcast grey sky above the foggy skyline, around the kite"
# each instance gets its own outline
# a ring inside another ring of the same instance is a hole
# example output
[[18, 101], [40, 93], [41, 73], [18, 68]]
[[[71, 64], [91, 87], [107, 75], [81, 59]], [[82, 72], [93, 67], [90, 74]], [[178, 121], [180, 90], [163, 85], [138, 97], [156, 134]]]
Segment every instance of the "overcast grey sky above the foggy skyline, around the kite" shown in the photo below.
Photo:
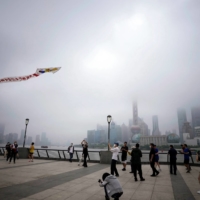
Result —
[[177, 128], [200, 105], [199, 19], [199, 0], [0, 0], [0, 78], [62, 67], [0, 84], [5, 133], [29, 118], [34, 140], [78, 143], [108, 114], [128, 125], [135, 99], [151, 131]]

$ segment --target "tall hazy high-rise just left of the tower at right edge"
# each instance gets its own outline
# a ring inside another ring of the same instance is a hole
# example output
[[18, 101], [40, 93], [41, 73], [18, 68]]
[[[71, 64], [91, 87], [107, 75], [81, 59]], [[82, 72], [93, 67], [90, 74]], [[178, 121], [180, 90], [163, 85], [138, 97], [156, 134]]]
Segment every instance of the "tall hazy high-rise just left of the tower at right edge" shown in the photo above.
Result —
[[185, 109], [178, 108], [177, 116], [178, 116], [178, 128], [179, 128], [180, 142], [183, 143], [183, 124], [185, 122], [187, 122]]

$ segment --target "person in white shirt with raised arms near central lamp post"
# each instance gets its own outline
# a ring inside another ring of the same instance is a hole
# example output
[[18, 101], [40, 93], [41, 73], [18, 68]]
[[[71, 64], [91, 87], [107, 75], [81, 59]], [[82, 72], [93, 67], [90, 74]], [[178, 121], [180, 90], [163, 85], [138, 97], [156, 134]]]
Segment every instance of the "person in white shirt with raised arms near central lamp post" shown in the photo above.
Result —
[[116, 143], [114, 143], [114, 146], [112, 148], [110, 146], [110, 143], [108, 143], [108, 147], [109, 147], [110, 151], [113, 153], [110, 171], [111, 171], [112, 175], [114, 175], [114, 173], [115, 173], [115, 176], [117, 176], [117, 177], [119, 176], [119, 173], [117, 171], [116, 164], [117, 164], [118, 155], [119, 155], [119, 152], [120, 152], [118, 146], [119, 146], [119, 144], [116, 142]]

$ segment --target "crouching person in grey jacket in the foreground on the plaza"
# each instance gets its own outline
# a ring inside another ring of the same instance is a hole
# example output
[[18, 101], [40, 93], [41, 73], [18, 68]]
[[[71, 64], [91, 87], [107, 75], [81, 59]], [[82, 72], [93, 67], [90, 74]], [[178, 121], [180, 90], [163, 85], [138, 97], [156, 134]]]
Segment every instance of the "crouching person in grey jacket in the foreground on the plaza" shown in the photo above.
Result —
[[118, 200], [122, 196], [123, 191], [117, 177], [109, 173], [104, 173], [102, 179], [103, 181], [99, 179], [98, 182], [100, 187], [104, 187], [106, 200], [109, 200], [109, 197]]

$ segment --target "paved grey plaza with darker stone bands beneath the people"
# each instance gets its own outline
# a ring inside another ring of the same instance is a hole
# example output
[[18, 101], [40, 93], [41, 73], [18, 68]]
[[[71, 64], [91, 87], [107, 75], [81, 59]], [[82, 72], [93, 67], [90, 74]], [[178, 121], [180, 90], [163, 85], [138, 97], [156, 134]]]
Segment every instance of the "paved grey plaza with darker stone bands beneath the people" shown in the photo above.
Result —
[[[124, 194], [121, 200], [200, 200], [197, 190], [199, 167], [192, 167], [186, 173], [185, 167], [178, 166], [178, 174], [170, 175], [169, 167], [162, 165], [157, 177], [150, 177], [149, 165], [143, 165], [144, 182], [135, 182], [127, 171], [117, 165], [119, 181]], [[109, 165], [88, 163], [88, 168], [79, 167], [77, 162], [41, 160], [28, 162], [16, 160], [8, 164], [0, 157], [0, 199], [1, 200], [104, 200], [104, 190], [98, 179], [104, 172], [110, 172]]]

